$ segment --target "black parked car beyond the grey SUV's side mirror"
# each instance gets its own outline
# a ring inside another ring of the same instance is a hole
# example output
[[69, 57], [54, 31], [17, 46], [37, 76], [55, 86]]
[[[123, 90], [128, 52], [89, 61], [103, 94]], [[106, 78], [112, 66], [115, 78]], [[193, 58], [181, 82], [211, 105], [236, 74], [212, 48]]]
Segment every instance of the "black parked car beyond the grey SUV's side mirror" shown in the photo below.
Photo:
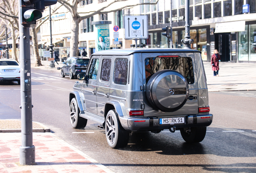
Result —
[[87, 66], [90, 58], [84, 57], [68, 57], [61, 69], [61, 76], [69, 76], [70, 79], [73, 79], [74, 76], [77, 76], [81, 72], [86, 72]]

